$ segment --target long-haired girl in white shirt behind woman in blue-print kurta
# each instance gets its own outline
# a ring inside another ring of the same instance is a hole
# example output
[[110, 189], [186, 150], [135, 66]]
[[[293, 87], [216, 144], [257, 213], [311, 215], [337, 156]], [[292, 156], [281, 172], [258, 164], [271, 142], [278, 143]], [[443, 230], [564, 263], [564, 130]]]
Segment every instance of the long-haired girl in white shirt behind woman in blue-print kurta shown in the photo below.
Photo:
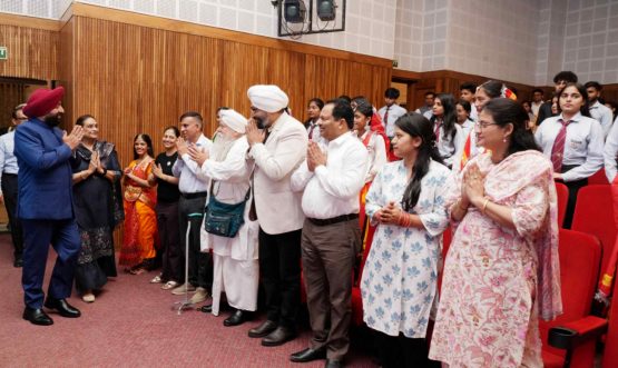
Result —
[[457, 123], [457, 102], [451, 93], [439, 93], [433, 99], [433, 116], [431, 117], [435, 133], [438, 151], [449, 168], [453, 166], [454, 157], [463, 149], [463, 130]]

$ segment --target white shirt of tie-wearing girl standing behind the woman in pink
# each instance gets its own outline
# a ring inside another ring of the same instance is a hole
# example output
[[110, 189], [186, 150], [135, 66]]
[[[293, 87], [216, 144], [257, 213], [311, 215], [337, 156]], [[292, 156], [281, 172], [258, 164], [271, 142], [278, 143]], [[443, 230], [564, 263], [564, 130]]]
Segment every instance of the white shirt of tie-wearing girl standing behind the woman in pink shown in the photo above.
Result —
[[[560, 113], [557, 117], [545, 119], [543, 123], [537, 128], [534, 140], [543, 150], [543, 155], [551, 160], [551, 149], [553, 141], [562, 123]], [[577, 113], [571, 118], [567, 126], [567, 137], [565, 140], [565, 155], [562, 165], [578, 166], [562, 173], [562, 180], [573, 181], [586, 179], [592, 176], [604, 165], [604, 132], [599, 122]]]

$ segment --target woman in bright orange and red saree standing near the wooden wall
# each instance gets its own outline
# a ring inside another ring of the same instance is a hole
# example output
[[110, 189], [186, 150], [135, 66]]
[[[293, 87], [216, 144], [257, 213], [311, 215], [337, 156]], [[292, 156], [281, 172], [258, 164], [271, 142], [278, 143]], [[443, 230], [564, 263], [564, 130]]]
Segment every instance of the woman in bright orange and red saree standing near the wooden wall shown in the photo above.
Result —
[[133, 275], [154, 266], [157, 243], [157, 191], [148, 182], [153, 171], [153, 141], [148, 135], [134, 139], [134, 160], [125, 169], [125, 235], [119, 263]]

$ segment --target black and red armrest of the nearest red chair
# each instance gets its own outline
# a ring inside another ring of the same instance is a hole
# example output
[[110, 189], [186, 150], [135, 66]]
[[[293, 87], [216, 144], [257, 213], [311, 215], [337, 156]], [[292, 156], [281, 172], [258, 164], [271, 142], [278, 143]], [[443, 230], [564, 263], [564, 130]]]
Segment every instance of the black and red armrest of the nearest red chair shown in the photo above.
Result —
[[563, 326], [550, 328], [548, 342], [555, 348], [570, 350], [604, 335], [607, 331], [607, 319], [587, 316]]

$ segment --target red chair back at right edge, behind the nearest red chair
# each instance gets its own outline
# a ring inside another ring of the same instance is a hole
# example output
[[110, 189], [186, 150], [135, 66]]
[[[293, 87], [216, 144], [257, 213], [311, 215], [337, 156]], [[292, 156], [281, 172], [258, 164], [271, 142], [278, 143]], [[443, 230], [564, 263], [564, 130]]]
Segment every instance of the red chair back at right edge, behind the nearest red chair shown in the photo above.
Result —
[[605, 271], [617, 232], [614, 223], [611, 186], [596, 185], [579, 189], [571, 229], [599, 238], [602, 246], [601, 271]]

